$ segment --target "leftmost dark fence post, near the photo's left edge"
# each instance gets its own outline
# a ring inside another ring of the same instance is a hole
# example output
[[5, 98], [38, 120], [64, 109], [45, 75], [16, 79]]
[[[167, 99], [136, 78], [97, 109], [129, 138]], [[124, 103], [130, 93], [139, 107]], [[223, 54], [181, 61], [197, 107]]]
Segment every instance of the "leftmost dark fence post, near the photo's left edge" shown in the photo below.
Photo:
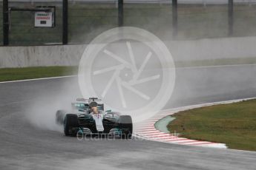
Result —
[[9, 10], [8, 0], [3, 0], [3, 44], [9, 45]]

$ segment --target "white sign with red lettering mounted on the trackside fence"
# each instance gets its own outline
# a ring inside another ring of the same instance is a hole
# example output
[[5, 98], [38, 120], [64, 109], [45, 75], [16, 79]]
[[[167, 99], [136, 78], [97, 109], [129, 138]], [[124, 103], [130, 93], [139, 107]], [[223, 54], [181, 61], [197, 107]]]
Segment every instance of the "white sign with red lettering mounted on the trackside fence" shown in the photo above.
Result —
[[35, 27], [53, 27], [52, 12], [36, 12]]

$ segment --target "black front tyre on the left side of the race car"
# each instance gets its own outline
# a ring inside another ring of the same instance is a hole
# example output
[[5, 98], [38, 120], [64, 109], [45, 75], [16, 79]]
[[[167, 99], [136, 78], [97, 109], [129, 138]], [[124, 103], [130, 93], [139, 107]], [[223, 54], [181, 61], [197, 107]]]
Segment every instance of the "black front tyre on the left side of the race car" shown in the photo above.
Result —
[[76, 136], [76, 132], [70, 131], [71, 128], [78, 127], [78, 118], [75, 114], [67, 114], [64, 120], [64, 133], [66, 136]]

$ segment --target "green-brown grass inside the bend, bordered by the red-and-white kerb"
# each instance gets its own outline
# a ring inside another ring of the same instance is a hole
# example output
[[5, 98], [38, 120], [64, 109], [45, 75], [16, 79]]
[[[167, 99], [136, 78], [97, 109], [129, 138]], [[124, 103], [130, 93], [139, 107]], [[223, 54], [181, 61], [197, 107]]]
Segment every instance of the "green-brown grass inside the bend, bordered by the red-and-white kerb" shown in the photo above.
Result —
[[191, 109], [174, 118], [168, 123], [168, 130], [179, 132], [182, 137], [256, 151], [256, 100]]

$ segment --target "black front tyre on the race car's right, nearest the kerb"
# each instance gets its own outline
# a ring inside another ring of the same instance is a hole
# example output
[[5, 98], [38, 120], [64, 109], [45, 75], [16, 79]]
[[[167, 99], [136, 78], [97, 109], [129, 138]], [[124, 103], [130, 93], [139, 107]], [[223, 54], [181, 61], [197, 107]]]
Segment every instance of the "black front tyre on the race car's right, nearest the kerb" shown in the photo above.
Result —
[[131, 138], [133, 132], [133, 123], [130, 115], [121, 115], [119, 118], [119, 128], [122, 130], [123, 139]]

